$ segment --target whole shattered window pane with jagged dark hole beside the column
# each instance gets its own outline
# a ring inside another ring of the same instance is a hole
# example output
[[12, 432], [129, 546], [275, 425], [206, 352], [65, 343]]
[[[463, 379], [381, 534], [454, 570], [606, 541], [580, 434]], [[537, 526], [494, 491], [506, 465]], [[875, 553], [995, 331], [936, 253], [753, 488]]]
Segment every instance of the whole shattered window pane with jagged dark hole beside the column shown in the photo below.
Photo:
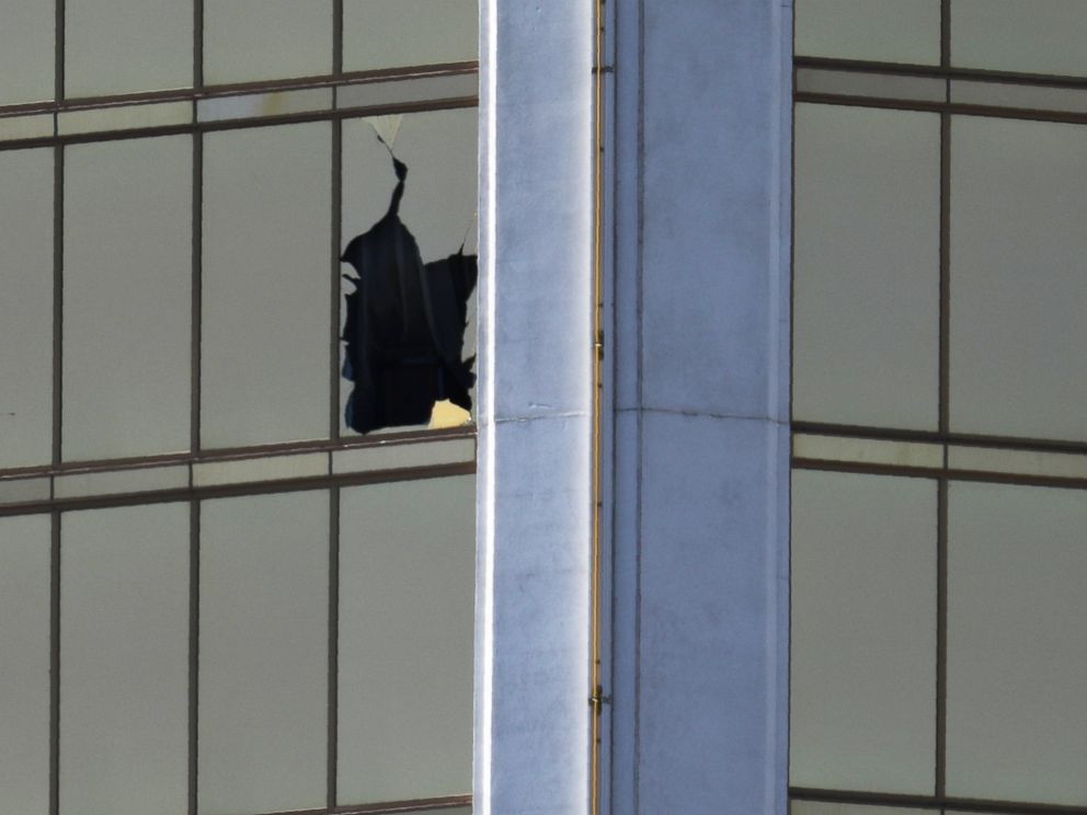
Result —
[[476, 381], [476, 111], [348, 122], [343, 168], [343, 234], [354, 236], [341, 259], [351, 265], [343, 427], [465, 424]]

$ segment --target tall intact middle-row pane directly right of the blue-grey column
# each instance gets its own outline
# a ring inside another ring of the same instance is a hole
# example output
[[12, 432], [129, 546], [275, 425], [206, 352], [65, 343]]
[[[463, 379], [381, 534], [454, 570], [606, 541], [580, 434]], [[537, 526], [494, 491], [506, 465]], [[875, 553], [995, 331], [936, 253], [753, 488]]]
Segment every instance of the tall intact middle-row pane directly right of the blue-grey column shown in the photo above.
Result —
[[939, 117], [797, 106], [793, 416], [935, 429]]

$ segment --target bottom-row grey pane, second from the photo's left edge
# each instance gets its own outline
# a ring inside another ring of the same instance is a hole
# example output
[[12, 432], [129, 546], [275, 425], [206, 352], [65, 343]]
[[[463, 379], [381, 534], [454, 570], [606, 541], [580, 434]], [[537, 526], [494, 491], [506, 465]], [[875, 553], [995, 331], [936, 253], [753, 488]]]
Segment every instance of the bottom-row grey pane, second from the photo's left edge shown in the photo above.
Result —
[[60, 812], [188, 800], [188, 505], [61, 519]]

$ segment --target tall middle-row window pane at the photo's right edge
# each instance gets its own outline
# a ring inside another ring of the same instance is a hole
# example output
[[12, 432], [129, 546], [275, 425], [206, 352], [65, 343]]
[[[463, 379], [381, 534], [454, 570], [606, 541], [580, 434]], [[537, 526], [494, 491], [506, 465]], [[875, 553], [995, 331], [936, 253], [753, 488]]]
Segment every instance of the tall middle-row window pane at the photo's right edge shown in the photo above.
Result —
[[957, 117], [951, 428], [1087, 438], [1087, 128]]

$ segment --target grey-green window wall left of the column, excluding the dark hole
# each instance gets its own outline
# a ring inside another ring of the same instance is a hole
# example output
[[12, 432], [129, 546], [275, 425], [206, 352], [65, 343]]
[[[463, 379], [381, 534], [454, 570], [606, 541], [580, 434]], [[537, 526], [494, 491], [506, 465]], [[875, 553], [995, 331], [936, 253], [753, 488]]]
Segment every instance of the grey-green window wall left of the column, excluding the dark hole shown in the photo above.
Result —
[[474, 428], [345, 427], [339, 257], [378, 135], [474, 251], [478, 3], [0, 5], [0, 810], [466, 815]]

